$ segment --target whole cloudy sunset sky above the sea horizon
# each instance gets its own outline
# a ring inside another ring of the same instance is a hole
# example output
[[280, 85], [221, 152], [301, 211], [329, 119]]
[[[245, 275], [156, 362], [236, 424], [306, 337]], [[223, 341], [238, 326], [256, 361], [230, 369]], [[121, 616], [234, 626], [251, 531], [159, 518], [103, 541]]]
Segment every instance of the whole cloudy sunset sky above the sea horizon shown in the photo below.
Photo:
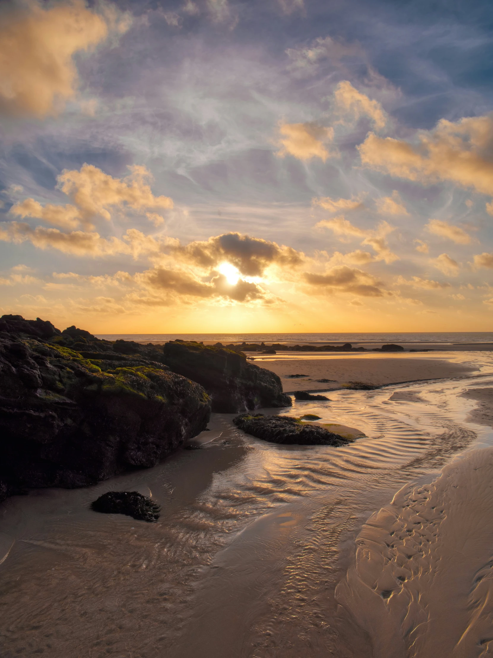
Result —
[[0, 312], [489, 331], [479, 0], [0, 3]]

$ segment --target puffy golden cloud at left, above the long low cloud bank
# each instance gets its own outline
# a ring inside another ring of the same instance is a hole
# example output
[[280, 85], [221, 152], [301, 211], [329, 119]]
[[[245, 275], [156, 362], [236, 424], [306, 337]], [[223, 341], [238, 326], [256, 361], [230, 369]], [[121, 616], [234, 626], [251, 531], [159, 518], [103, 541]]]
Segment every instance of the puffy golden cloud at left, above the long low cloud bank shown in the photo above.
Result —
[[149, 210], [164, 210], [173, 207], [169, 197], [155, 197], [148, 184], [151, 173], [142, 165], [130, 166], [126, 178], [113, 178], [93, 164], [84, 164], [80, 170], [63, 170], [57, 178], [57, 186], [72, 201], [72, 204], [42, 206], [34, 199], [24, 199], [11, 208], [11, 214], [22, 218], [29, 216], [63, 228], [75, 228], [80, 223], [93, 228], [91, 220], [103, 217], [111, 220], [117, 209], [132, 209], [145, 213], [149, 221], [158, 225], [163, 217]]

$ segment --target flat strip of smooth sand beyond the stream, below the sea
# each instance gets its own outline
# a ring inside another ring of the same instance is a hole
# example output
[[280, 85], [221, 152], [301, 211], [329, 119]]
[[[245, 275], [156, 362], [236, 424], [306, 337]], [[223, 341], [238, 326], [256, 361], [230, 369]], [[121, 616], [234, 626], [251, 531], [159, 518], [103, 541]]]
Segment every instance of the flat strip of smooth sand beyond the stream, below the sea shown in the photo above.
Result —
[[[257, 357], [255, 365], [268, 368], [280, 376], [286, 392], [297, 390], [331, 390], [346, 382], [357, 381], [382, 386], [430, 379], [460, 377], [477, 371], [473, 365], [453, 363], [436, 357], [406, 355], [369, 354], [365, 356], [311, 357], [311, 355], [276, 355]], [[290, 378], [290, 374], [305, 377]], [[317, 382], [320, 379], [334, 382]]]

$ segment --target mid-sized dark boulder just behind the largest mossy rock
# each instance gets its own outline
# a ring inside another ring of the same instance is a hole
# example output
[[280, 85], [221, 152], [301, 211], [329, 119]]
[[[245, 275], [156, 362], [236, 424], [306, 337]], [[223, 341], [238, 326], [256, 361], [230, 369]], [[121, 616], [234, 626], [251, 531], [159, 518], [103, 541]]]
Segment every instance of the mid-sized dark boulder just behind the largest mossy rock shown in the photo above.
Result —
[[274, 372], [249, 363], [243, 353], [216, 345], [172, 341], [163, 345], [163, 361], [173, 372], [199, 382], [209, 393], [212, 410], [238, 413], [261, 407], [290, 407]]

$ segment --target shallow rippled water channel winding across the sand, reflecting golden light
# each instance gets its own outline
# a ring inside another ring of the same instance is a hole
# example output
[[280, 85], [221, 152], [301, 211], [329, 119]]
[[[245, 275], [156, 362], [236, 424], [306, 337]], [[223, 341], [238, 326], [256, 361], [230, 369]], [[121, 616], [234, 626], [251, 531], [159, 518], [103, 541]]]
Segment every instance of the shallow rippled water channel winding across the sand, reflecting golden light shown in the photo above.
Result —
[[[288, 411], [365, 432], [347, 447], [274, 445], [213, 415], [200, 450], [90, 488], [9, 499], [0, 657], [372, 656], [334, 590], [361, 526], [400, 488], [493, 445], [493, 430], [466, 420], [475, 402], [457, 397], [493, 385], [489, 356], [468, 358], [482, 374], [331, 391]], [[159, 522], [90, 511], [108, 490], [151, 492]]]

